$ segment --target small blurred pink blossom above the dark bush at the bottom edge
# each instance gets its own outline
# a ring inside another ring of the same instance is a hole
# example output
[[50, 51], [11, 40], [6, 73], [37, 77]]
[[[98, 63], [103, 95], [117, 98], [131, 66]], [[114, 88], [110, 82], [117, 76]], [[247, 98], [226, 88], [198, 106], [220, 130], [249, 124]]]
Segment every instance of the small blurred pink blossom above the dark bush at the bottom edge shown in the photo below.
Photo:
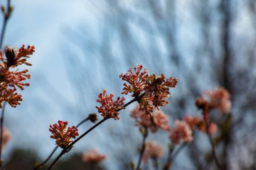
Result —
[[85, 162], [100, 163], [106, 159], [106, 155], [100, 155], [96, 150], [89, 150], [84, 153], [82, 160]]

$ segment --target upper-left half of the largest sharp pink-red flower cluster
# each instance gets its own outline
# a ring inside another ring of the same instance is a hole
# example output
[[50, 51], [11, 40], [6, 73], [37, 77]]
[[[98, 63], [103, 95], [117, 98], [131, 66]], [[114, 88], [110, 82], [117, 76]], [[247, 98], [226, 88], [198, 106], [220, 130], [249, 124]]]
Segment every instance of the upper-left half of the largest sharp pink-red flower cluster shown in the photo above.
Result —
[[131, 96], [135, 97], [140, 95], [144, 90], [146, 79], [148, 78], [148, 70], [144, 69], [144, 71], [140, 73], [142, 67], [142, 65], [136, 65], [136, 67], [134, 67], [135, 73], [133, 73], [130, 68], [125, 75], [123, 75], [123, 73], [119, 75], [119, 78], [122, 78], [122, 80], [127, 81], [130, 84], [123, 84], [125, 87], [123, 88], [122, 94], [127, 95], [128, 93], [133, 92]]

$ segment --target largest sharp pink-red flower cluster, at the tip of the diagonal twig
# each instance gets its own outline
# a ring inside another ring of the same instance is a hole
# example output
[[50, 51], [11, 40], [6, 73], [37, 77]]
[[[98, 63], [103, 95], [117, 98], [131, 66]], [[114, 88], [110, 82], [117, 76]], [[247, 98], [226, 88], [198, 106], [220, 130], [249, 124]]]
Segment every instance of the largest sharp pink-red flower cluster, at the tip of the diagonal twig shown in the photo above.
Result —
[[166, 79], [163, 74], [160, 76], [148, 75], [147, 69], [140, 73], [142, 68], [142, 65], [137, 65], [134, 67], [135, 73], [131, 69], [125, 75], [121, 73], [119, 77], [129, 83], [129, 85], [124, 83], [125, 87], [122, 93], [133, 92], [132, 96], [134, 97], [138, 97], [143, 93], [138, 99], [139, 109], [146, 114], [151, 114], [153, 112], [152, 105], [159, 110], [159, 106], [164, 106], [168, 103], [167, 99], [170, 97], [169, 87], [174, 88], [178, 80], [172, 77]]

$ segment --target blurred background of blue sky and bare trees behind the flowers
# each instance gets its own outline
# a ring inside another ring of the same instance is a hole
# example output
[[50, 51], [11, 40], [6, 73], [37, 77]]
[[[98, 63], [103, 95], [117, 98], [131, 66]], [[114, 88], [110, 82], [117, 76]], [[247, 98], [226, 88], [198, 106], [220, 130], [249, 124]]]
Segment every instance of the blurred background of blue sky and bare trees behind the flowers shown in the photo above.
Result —
[[[1, 5], [6, 3], [0, 0]], [[6, 169], [11, 165], [32, 169], [34, 162], [45, 159], [55, 147], [49, 125], [58, 120], [75, 125], [96, 112], [102, 89], [120, 96], [119, 74], [137, 64], [150, 73], [178, 78], [170, 103], [163, 108], [170, 126], [185, 114], [200, 114], [195, 99], [203, 91], [228, 89], [232, 116], [214, 116], [219, 126], [228, 124], [218, 143], [218, 157], [224, 169], [256, 169], [255, 0], [13, 0], [11, 4], [14, 11], [3, 45], [30, 44], [36, 52], [29, 60], [30, 87], [20, 91], [22, 104], [6, 108], [5, 126], [11, 132], [3, 151]], [[130, 161], [137, 163], [142, 139], [129, 117], [134, 106], [121, 112], [120, 120], [108, 120], [77, 142], [59, 163], [65, 168], [59, 169], [72, 169], [67, 165], [74, 160], [81, 165], [75, 169], [86, 169], [81, 155], [90, 148], [108, 157], [99, 169], [129, 169]], [[79, 132], [90, 126], [83, 124]], [[168, 134], [150, 138], [167, 148]], [[216, 169], [210, 149], [207, 136], [197, 134], [172, 169]]]

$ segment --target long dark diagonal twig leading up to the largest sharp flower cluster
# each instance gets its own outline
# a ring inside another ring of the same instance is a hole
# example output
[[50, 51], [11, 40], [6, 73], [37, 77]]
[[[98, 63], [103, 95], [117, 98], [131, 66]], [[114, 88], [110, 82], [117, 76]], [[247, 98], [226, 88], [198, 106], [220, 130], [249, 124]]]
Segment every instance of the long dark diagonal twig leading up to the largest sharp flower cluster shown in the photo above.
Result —
[[[139, 99], [139, 97], [142, 97], [144, 94], [139, 95], [138, 97], [134, 97], [131, 101], [129, 101], [128, 103], [126, 103], [125, 105], [123, 105], [123, 107], [127, 107], [127, 105], [130, 105], [131, 103], [133, 103], [134, 101], [137, 101], [137, 99]], [[117, 110], [116, 112], [119, 112], [122, 109]], [[79, 136], [77, 139], [75, 139], [73, 142], [71, 142], [71, 144], [69, 144], [69, 146], [67, 146], [66, 148], [63, 148], [63, 150], [61, 151], [61, 153], [58, 155], [58, 157], [53, 161], [53, 163], [50, 165], [50, 167], [48, 168], [48, 170], [52, 169], [53, 166], [55, 165], [55, 163], [57, 163], [57, 161], [68, 151], [70, 151], [70, 149], [73, 147], [73, 145], [80, 140], [81, 138], [83, 138], [84, 136], [86, 136], [86, 134], [88, 134], [89, 132], [91, 132], [92, 130], [94, 130], [94, 128], [96, 128], [97, 126], [99, 126], [100, 124], [102, 124], [103, 122], [105, 122], [106, 120], [108, 120], [109, 118], [104, 118], [102, 120], [100, 120], [100, 122], [98, 122], [97, 124], [94, 124], [94, 126], [92, 126], [90, 129], [88, 129], [86, 132], [84, 132], [84, 134], [82, 134], [81, 136]]]

